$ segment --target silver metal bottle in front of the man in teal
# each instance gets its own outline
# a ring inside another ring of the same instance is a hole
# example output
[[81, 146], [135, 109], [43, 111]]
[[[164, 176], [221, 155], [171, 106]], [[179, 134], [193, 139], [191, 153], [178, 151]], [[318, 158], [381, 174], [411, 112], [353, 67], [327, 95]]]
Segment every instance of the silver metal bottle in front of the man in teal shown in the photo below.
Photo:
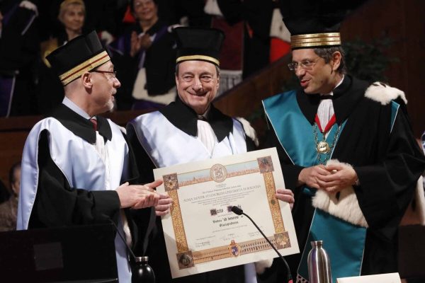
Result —
[[310, 283], [332, 283], [331, 261], [322, 248], [323, 241], [312, 241], [312, 250], [308, 254], [308, 275]]

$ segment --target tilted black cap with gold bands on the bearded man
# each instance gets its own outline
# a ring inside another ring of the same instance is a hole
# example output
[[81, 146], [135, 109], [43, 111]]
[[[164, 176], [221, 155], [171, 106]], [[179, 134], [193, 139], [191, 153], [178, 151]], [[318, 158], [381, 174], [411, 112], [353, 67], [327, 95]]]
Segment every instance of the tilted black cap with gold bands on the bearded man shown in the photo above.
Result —
[[111, 60], [94, 30], [70, 40], [50, 53], [46, 59], [57, 71], [64, 86], [79, 78], [84, 72]]

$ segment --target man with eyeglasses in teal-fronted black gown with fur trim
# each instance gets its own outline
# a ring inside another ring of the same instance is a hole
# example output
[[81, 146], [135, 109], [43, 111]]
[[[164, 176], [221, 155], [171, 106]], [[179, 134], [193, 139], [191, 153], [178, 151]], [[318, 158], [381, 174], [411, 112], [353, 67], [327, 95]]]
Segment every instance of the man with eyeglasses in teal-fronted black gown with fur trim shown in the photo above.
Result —
[[[344, 8], [323, 1], [281, 4], [292, 35], [288, 67], [300, 88], [263, 106], [268, 146], [278, 149], [285, 185], [295, 194], [301, 253], [288, 256], [293, 276], [309, 279], [310, 241], [324, 241], [333, 282], [397, 272], [397, 226], [425, 168], [404, 93], [346, 74], [339, 35]], [[284, 270], [279, 265], [275, 260], [263, 277]]]

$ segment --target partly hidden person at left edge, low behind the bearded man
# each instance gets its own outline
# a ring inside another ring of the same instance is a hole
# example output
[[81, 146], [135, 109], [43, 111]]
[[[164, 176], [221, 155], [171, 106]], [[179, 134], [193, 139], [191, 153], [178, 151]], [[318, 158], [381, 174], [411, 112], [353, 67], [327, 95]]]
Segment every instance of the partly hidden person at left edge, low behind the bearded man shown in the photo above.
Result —
[[11, 196], [0, 204], [0, 232], [16, 230], [18, 195], [21, 187], [21, 162], [13, 164], [9, 171]]

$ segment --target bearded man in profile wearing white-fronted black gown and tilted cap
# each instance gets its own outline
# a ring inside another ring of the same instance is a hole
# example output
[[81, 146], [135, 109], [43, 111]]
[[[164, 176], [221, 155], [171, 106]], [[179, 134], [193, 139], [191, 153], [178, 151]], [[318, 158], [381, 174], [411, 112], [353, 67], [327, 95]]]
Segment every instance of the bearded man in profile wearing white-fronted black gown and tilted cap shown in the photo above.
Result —
[[[144, 219], [139, 209], [158, 203], [154, 187], [162, 181], [130, 185], [138, 175], [123, 128], [99, 116], [112, 110], [120, 87], [111, 59], [93, 31], [47, 60], [60, 74], [65, 97], [26, 140], [17, 228], [114, 221], [127, 245], [142, 250], [149, 216]], [[118, 234], [115, 250], [119, 281], [131, 282], [128, 250]]]

